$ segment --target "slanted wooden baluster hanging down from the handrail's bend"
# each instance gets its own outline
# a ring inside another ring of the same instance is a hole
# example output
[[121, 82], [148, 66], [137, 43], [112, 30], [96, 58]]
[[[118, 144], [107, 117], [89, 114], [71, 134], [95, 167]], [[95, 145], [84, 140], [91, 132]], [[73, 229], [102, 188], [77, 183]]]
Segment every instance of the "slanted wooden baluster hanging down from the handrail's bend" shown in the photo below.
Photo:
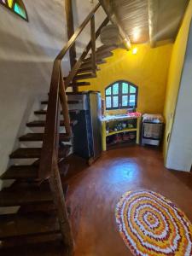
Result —
[[71, 126], [70, 126], [66, 89], [65, 89], [65, 84], [63, 81], [61, 69], [60, 69], [60, 102], [61, 102], [62, 115], [63, 115], [63, 119], [64, 119], [64, 125], [66, 128], [66, 133], [67, 133], [67, 135], [71, 136], [72, 130], [71, 130]]

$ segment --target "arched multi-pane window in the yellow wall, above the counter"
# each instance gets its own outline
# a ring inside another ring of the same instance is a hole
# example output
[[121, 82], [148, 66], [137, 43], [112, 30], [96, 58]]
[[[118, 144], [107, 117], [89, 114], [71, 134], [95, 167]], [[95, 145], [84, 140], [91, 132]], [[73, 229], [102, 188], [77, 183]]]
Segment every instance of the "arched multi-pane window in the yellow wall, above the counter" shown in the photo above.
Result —
[[106, 109], [137, 108], [138, 88], [127, 81], [117, 81], [105, 90]]

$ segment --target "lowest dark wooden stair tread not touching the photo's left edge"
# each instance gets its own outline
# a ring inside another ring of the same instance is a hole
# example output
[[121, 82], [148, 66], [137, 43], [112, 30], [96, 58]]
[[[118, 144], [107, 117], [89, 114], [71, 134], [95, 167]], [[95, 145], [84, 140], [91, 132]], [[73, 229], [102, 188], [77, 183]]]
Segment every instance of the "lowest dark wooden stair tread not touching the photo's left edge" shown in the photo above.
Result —
[[[71, 146], [65, 145], [59, 149], [59, 158], [66, 157]], [[18, 148], [10, 154], [11, 159], [40, 158], [42, 148]]]

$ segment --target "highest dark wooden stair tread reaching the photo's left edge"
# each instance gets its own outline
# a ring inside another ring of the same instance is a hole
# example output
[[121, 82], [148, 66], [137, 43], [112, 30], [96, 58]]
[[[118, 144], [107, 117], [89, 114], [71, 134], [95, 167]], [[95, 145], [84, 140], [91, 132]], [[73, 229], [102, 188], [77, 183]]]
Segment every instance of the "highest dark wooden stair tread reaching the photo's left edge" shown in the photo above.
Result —
[[37, 166], [10, 166], [1, 179], [35, 179], [38, 177]]

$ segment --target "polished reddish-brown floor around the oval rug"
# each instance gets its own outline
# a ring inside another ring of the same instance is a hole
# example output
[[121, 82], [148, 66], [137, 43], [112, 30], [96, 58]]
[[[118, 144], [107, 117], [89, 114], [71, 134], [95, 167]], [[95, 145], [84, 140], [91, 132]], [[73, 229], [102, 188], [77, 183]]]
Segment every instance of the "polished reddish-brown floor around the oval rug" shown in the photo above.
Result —
[[73, 157], [67, 202], [75, 238], [75, 256], [131, 255], [119, 236], [114, 208], [125, 191], [150, 189], [165, 195], [192, 221], [192, 175], [168, 171], [154, 148], [119, 148], [102, 154], [92, 166]]

